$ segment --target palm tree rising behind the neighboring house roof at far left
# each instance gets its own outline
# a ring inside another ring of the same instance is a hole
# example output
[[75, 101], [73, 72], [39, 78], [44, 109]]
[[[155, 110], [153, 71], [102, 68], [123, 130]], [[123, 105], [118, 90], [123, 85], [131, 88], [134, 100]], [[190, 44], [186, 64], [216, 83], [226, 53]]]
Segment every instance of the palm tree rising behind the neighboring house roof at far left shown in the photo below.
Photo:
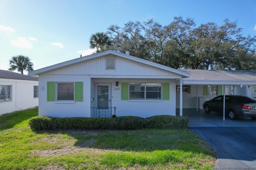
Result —
[[23, 70], [25, 71], [34, 71], [33, 63], [30, 61], [28, 56], [24, 55], [16, 55], [13, 56], [12, 59], [9, 60], [10, 68], [8, 70], [14, 71], [18, 70], [23, 74]]

